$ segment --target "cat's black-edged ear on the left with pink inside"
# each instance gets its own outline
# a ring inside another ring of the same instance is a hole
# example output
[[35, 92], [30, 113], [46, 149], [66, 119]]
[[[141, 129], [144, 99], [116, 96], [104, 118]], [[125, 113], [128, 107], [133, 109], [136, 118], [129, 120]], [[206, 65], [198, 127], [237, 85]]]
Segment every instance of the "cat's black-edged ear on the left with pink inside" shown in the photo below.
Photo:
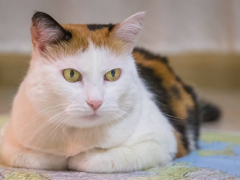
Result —
[[69, 40], [72, 34], [66, 31], [51, 16], [43, 12], [36, 12], [32, 17], [31, 24], [32, 43], [38, 52], [45, 50], [49, 44], [61, 40]]

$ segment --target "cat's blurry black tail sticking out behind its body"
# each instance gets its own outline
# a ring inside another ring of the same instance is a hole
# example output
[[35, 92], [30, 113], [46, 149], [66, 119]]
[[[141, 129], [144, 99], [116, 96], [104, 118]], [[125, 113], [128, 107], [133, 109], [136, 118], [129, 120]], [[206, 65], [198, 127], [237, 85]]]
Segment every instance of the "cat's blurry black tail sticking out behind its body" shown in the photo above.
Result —
[[202, 111], [203, 122], [217, 121], [221, 117], [221, 109], [213, 103], [205, 100], [200, 100], [200, 108]]

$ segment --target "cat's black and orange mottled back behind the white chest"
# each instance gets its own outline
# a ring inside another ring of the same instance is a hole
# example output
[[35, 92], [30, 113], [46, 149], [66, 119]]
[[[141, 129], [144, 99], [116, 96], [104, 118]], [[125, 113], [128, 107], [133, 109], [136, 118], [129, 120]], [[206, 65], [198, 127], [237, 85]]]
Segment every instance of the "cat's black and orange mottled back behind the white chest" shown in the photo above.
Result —
[[197, 147], [200, 111], [193, 89], [174, 73], [168, 59], [135, 48], [133, 57], [139, 76], [155, 95], [154, 101], [168, 118], [186, 151]]

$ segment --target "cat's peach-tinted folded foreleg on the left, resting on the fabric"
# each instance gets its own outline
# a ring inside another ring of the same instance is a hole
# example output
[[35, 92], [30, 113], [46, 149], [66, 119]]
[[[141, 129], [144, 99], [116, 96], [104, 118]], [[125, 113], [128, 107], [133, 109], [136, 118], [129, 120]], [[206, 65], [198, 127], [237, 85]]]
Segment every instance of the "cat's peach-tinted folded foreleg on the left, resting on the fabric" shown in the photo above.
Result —
[[6, 166], [30, 169], [67, 169], [67, 158], [26, 149], [12, 142], [4, 142], [1, 161]]

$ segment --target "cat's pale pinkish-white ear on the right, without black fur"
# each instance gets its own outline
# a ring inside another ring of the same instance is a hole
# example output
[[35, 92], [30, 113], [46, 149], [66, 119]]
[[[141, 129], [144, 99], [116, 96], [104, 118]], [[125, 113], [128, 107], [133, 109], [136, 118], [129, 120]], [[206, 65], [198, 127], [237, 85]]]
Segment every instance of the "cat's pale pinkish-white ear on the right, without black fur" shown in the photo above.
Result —
[[140, 33], [146, 12], [136, 13], [114, 27], [114, 36], [133, 48]]

